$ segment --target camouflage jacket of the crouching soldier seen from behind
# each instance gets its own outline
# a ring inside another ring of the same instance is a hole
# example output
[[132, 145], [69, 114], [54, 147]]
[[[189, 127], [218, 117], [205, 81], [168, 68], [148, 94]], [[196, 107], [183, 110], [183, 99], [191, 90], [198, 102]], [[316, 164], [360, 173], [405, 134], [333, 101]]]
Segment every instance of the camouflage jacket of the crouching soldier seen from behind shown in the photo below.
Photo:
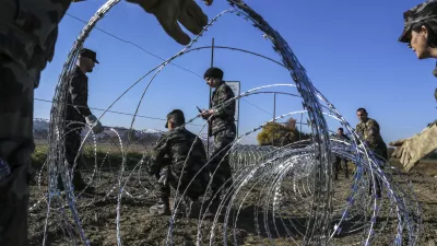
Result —
[[[184, 164], [188, 157], [184, 174], [191, 178], [206, 164], [206, 152], [203, 142], [199, 138], [196, 138], [196, 134], [184, 127], [163, 133], [153, 148], [149, 168], [157, 171], [164, 166], [172, 165], [170, 171], [175, 173], [176, 176], [179, 176], [181, 175]], [[188, 155], [194, 140], [196, 143], [190, 155]], [[205, 172], [206, 168], [203, 168], [202, 173]]]

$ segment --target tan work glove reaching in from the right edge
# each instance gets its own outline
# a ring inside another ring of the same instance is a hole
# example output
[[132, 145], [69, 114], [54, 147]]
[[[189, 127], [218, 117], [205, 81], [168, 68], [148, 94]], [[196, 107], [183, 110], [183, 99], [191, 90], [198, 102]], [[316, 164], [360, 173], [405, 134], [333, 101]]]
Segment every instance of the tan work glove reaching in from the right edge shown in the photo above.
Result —
[[389, 143], [398, 147], [392, 156], [398, 157], [409, 172], [418, 161], [437, 149], [437, 125], [425, 128], [421, 133], [412, 138]]

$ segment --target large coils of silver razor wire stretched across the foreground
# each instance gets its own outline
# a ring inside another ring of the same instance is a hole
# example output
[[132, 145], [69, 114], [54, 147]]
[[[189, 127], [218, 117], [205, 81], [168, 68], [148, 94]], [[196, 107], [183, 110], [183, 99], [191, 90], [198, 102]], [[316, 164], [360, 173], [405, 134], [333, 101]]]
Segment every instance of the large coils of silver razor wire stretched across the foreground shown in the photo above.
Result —
[[[43, 201], [47, 203], [43, 239], [44, 245], [47, 241], [48, 227], [49, 225], [54, 226], [56, 221], [61, 224], [58, 230], [62, 231], [61, 233], [70, 244], [76, 245], [80, 238], [83, 244], [90, 245], [91, 242], [82, 227], [81, 215], [78, 209], [91, 209], [93, 204], [108, 199], [113, 199], [113, 202], [117, 203], [115, 222], [117, 232], [116, 241], [118, 245], [122, 245], [121, 202], [123, 195], [126, 195], [126, 199], [137, 200], [154, 197], [151, 181], [142, 183], [141, 180], [143, 176], [146, 175], [143, 171], [144, 167], [142, 167], [144, 163], [146, 163], [146, 156], [149, 154], [146, 151], [142, 152], [142, 156], [137, 160], [137, 164], [133, 165], [132, 171], [130, 171], [129, 174], [126, 173], [128, 150], [134, 145], [132, 142], [132, 134], [138, 133], [138, 131], [133, 129], [129, 129], [127, 143], [123, 143], [116, 129], [110, 129], [118, 137], [118, 141], [114, 143], [114, 147], [119, 150], [121, 161], [118, 161], [118, 165], [115, 165], [115, 168], [118, 169], [118, 175], [114, 175], [114, 184], [108, 186], [109, 191], [105, 191], [106, 194], [102, 199], [91, 199], [91, 201], [87, 200], [85, 202], [80, 200], [83, 194], [82, 191], [78, 192], [78, 190], [73, 191], [74, 189], [71, 186], [72, 174], [68, 168], [64, 157], [66, 150], [63, 142], [67, 133], [64, 130], [67, 126], [64, 114], [69, 74], [75, 63], [78, 52], [80, 48], [82, 48], [88, 34], [97, 22], [118, 2], [119, 0], [107, 1], [84, 26], [68, 56], [56, 87], [54, 96], [55, 103], [50, 113], [48, 155], [45, 163], [48, 169], [48, 194], [47, 196], [43, 195], [31, 208], [32, 212], [32, 210], [43, 204]], [[233, 9], [223, 11], [215, 16], [202, 33], [193, 38], [187, 47], [149, 71], [144, 77], [132, 84], [131, 87], [155, 71], [144, 90], [140, 99], [141, 102], [154, 78], [169, 62], [190, 51], [202, 49], [202, 47], [190, 48], [221, 16], [225, 13], [235, 13], [250, 21], [255, 27], [259, 28], [264, 34], [264, 37], [271, 40], [273, 49], [280, 55], [282, 62], [271, 61], [286, 68], [295, 84], [267, 85], [253, 89], [237, 95], [232, 101], [239, 99], [244, 96], [253, 96], [259, 93], [272, 93], [262, 92], [262, 90], [265, 89], [295, 86], [303, 99], [303, 107], [305, 110], [291, 112], [276, 119], [305, 113], [308, 118], [309, 129], [311, 130], [311, 139], [282, 148], [246, 147], [239, 144], [239, 141], [244, 138], [262, 129], [265, 122], [238, 137], [231, 143], [231, 148], [226, 154], [229, 156], [233, 166], [232, 188], [227, 188], [226, 198], [222, 200], [221, 207], [214, 215], [212, 223], [206, 223], [205, 214], [202, 214], [203, 210], [199, 211], [196, 244], [216, 245], [220, 241], [216, 237], [217, 232], [222, 233], [221, 244], [241, 244], [243, 242], [238, 242], [237, 236], [238, 220], [241, 220], [241, 216], [244, 216], [241, 213], [245, 202], [247, 203], [249, 199], [252, 199], [250, 201], [253, 206], [251, 215], [253, 216], [257, 236], [271, 241], [269, 244], [274, 243], [275, 238], [280, 237], [284, 238], [284, 242], [288, 244], [298, 245], [369, 245], [374, 242], [383, 242], [383, 244], [392, 245], [402, 245], [405, 243], [408, 245], [416, 245], [421, 233], [422, 219], [420, 206], [412, 192], [411, 186], [402, 186], [402, 184], [398, 184], [394, 180], [392, 174], [395, 173], [395, 169], [390, 166], [385, 167], [385, 163], [376, 159], [362, 138], [340, 115], [335, 107], [314, 87], [304, 67], [298, 62], [282, 36], [244, 1], [228, 0], [228, 2]], [[122, 95], [125, 95], [126, 92]], [[114, 102], [107, 110], [116, 102]], [[140, 104], [141, 103], [139, 103], [137, 107], [135, 114], [139, 110]], [[102, 116], [99, 118], [102, 118]], [[345, 128], [345, 132], [352, 137], [351, 142], [330, 138], [326, 116], [338, 120]], [[133, 122], [134, 118], [132, 119], [131, 128]], [[90, 133], [93, 138], [92, 141], [87, 140]], [[103, 175], [103, 169], [101, 168], [103, 167], [103, 163], [107, 160], [107, 156], [104, 156], [101, 165], [97, 164], [97, 142], [91, 128], [87, 128], [87, 133], [82, 142], [82, 147], [86, 141], [91, 142], [95, 155], [94, 171], [91, 175], [91, 180], [87, 183], [87, 185], [90, 185]], [[335, 186], [332, 181], [332, 162], [334, 155], [346, 159], [355, 164], [355, 174], [351, 180], [351, 190], [347, 197], [342, 197], [341, 194], [334, 192]], [[382, 169], [382, 167], [385, 167], [385, 169]], [[138, 172], [138, 183], [141, 188], [129, 190], [129, 184], [132, 183], [134, 172]], [[62, 185], [66, 187], [66, 191], [63, 192], [60, 192], [57, 188], [58, 176], [61, 177]], [[376, 197], [375, 184], [377, 180], [381, 183], [381, 189], [383, 191], [382, 198]], [[209, 184], [209, 187], [210, 185], [211, 184]], [[370, 194], [368, 192], [368, 187], [373, 187]], [[181, 196], [178, 195], [178, 191]], [[173, 202], [174, 211], [165, 239], [166, 245], [174, 245], [174, 226], [181, 220], [177, 219], [175, 215], [179, 204], [182, 203], [185, 192], [186, 190], [176, 191], [176, 198]], [[114, 195], [110, 196], [110, 194]], [[210, 204], [205, 201], [206, 199], [203, 198], [202, 207], [208, 208]], [[68, 206], [69, 211], [64, 209], [66, 206]], [[222, 210], [225, 214], [224, 218], [221, 219]], [[247, 216], [248, 214], [245, 215]], [[259, 215], [261, 215], [261, 218]], [[218, 230], [217, 227], [222, 229]], [[231, 229], [231, 231], [228, 231], [228, 229]], [[393, 230], [391, 232], [392, 238], [379, 241], [382, 238], [381, 234], [387, 234], [387, 230], [390, 229]], [[205, 236], [206, 234], [209, 234], [209, 236]], [[204, 241], [204, 238], [206, 238], [206, 241]], [[352, 239], [344, 241], [345, 238]]]

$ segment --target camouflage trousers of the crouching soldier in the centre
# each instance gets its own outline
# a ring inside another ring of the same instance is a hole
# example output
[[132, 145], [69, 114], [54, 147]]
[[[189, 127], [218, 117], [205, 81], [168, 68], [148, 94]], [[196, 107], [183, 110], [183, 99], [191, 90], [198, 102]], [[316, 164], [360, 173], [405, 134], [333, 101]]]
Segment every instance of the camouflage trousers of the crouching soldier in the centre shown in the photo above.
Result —
[[156, 183], [157, 196], [160, 198], [169, 198], [170, 186], [176, 190], [178, 188], [179, 179], [179, 195], [185, 192], [185, 196], [191, 200], [197, 200], [199, 197], [203, 196], [206, 191], [208, 183], [210, 181], [208, 172], [201, 172], [196, 177], [196, 174], [189, 171], [184, 173], [185, 174], [180, 178], [180, 172], [172, 171], [169, 165], [161, 168], [160, 174], [156, 175], [156, 179], [158, 179]]

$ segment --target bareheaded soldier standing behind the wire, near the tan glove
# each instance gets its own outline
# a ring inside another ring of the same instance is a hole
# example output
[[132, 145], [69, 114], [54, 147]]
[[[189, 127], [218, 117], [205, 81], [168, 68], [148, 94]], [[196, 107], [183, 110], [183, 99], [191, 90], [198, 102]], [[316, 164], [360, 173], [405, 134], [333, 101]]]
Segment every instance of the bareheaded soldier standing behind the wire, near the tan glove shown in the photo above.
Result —
[[[368, 117], [365, 108], [358, 108], [356, 115], [359, 122], [356, 125], [356, 132], [364, 139], [368, 148], [371, 150], [375, 157], [381, 162], [386, 162], [388, 159], [387, 145], [380, 134], [379, 124]], [[376, 183], [376, 196], [381, 197], [380, 180], [375, 177], [378, 181]], [[371, 183], [369, 186], [369, 194], [371, 194]]]

